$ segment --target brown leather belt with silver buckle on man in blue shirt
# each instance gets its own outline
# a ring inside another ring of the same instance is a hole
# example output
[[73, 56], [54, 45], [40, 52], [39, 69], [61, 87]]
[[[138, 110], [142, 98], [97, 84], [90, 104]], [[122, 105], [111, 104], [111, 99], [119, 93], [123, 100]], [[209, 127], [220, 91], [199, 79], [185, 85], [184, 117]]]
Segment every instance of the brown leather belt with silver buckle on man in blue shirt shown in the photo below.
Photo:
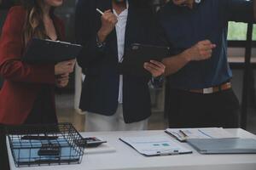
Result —
[[217, 92], [228, 90], [230, 88], [231, 88], [231, 82], [226, 82], [224, 84], [221, 84], [219, 86], [214, 86], [212, 88], [190, 89], [189, 92], [195, 93], [195, 94], [214, 94]]

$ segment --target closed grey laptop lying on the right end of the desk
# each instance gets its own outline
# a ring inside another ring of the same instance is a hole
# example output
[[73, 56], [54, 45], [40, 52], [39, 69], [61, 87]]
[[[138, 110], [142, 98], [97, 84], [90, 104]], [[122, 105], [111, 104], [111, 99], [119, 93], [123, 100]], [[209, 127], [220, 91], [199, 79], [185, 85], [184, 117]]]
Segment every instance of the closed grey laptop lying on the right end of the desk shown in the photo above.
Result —
[[255, 139], [188, 139], [201, 154], [256, 154]]

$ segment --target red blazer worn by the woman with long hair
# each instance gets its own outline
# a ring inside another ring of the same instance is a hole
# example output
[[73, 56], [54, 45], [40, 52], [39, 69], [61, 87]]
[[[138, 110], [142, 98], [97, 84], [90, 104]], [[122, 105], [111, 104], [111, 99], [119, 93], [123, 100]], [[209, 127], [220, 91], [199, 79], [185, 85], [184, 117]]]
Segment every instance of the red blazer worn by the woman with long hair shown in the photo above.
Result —
[[[55, 65], [28, 65], [20, 61], [25, 51], [25, 18], [23, 7], [10, 8], [0, 39], [0, 76], [5, 80], [0, 91], [0, 123], [6, 125], [25, 122], [42, 84], [55, 85]], [[63, 39], [63, 23], [56, 17], [53, 20]], [[54, 92], [52, 95], [55, 105]]]

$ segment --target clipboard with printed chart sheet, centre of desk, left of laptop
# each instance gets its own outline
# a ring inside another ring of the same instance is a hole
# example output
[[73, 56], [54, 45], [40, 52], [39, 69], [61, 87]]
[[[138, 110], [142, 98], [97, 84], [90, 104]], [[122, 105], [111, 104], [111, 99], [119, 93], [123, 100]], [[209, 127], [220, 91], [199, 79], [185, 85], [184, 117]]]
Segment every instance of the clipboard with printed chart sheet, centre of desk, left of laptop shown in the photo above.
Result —
[[165, 136], [148, 137], [126, 137], [121, 138], [125, 144], [130, 145], [143, 156], [168, 156], [178, 154], [189, 154], [192, 150], [184, 148], [177, 142], [172, 141]]

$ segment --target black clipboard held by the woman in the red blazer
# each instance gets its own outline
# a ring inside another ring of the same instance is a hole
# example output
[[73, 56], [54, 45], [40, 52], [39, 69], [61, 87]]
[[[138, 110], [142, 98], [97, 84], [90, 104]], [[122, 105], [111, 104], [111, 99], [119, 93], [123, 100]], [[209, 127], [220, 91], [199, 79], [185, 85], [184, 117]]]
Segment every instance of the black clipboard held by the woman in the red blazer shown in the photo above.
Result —
[[79, 44], [32, 38], [21, 60], [29, 64], [56, 64], [75, 59], [81, 49]]

